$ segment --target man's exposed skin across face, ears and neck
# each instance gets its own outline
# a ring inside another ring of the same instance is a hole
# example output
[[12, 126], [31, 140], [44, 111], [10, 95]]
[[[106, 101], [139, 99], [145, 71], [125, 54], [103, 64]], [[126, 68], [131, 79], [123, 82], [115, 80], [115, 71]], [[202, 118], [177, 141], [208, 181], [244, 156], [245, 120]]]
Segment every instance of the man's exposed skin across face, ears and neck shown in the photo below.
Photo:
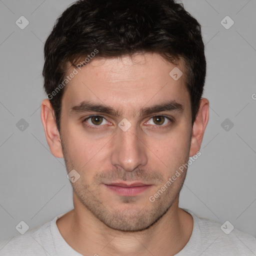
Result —
[[[70, 182], [74, 208], [56, 223], [82, 255], [174, 255], [191, 236], [192, 216], [178, 207], [186, 171], [154, 202], [148, 199], [199, 151], [208, 122], [209, 101], [202, 98], [191, 125], [185, 69], [180, 61], [183, 75], [174, 80], [169, 75], [174, 67], [156, 53], [93, 59], [65, 88], [60, 134], [49, 100], [42, 101], [41, 120], [52, 154], [64, 157], [67, 171], [80, 175]], [[70, 110], [84, 100], [111, 106], [120, 116]], [[167, 100], [182, 104], [183, 110], [139, 114], [141, 107]], [[103, 118], [84, 121], [93, 114]], [[118, 126], [123, 118], [131, 124], [126, 131]], [[113, 181], [151, 186], [123, 196], [104, 185]]]

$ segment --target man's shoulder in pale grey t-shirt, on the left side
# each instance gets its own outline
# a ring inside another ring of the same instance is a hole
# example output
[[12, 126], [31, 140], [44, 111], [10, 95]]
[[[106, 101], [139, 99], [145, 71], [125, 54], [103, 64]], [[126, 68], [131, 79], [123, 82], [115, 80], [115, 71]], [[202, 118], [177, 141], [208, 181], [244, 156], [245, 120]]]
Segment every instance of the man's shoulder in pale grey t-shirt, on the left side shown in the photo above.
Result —
[[34, 256], [35, 252], [36, 255], [48, 255], [44, 246], [46, 244], [43, 243], [51, 240], [50, 224], [52, 221], [50, 220], [41, 224], [24, 234], [19, 234], [1, 241], [0, 256]]

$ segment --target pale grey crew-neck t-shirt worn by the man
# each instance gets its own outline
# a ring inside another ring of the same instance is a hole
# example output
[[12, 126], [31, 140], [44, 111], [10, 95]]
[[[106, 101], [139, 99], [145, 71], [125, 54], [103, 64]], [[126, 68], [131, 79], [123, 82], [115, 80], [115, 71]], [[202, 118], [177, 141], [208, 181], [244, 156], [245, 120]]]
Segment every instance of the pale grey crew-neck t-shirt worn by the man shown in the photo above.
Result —
[[[224, 223], [221, 229], [221, 224], [218, 222], [197, 217], [190, 210], [184, 210], [193, 217], [193, 230], [189, 241], [181, 251], [175, 254], [176, 256], [256, 255], [255, 237], [236, 228], [231, 231], [230, 222]], [[56, 220], [64, 214], [22, 235], [2, 241], [0, 256], [81, 256], [66, 243], [57, 228]]]

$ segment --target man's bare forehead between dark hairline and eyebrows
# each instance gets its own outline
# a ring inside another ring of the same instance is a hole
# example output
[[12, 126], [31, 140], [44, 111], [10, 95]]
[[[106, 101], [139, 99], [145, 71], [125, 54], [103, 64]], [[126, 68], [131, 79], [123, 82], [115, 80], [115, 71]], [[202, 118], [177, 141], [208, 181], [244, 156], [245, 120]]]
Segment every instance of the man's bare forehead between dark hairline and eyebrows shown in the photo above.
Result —
[[69, 108], [84, 100], [128, 110], [167, 100], [187, 104], [189, 99], [182, 62], [175, 66], [156, 53], [95, 58], [77, 71], [62, 99]]

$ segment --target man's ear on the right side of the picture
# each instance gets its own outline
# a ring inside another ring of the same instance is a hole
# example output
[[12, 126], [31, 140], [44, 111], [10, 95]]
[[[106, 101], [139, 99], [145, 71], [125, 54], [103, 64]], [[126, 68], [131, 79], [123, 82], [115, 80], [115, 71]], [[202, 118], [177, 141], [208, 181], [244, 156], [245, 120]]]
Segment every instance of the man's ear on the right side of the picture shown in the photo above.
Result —
[[192, 127], [189, 156], [193, 156], [194, 154], [196, 154], [197, 151], [200, 150], [202, 137], [203, 137], [206, 125], [208, 123], [208, 119], [209, 119], [209, 100], [207, 98], [201, 98], [199, 110]]

